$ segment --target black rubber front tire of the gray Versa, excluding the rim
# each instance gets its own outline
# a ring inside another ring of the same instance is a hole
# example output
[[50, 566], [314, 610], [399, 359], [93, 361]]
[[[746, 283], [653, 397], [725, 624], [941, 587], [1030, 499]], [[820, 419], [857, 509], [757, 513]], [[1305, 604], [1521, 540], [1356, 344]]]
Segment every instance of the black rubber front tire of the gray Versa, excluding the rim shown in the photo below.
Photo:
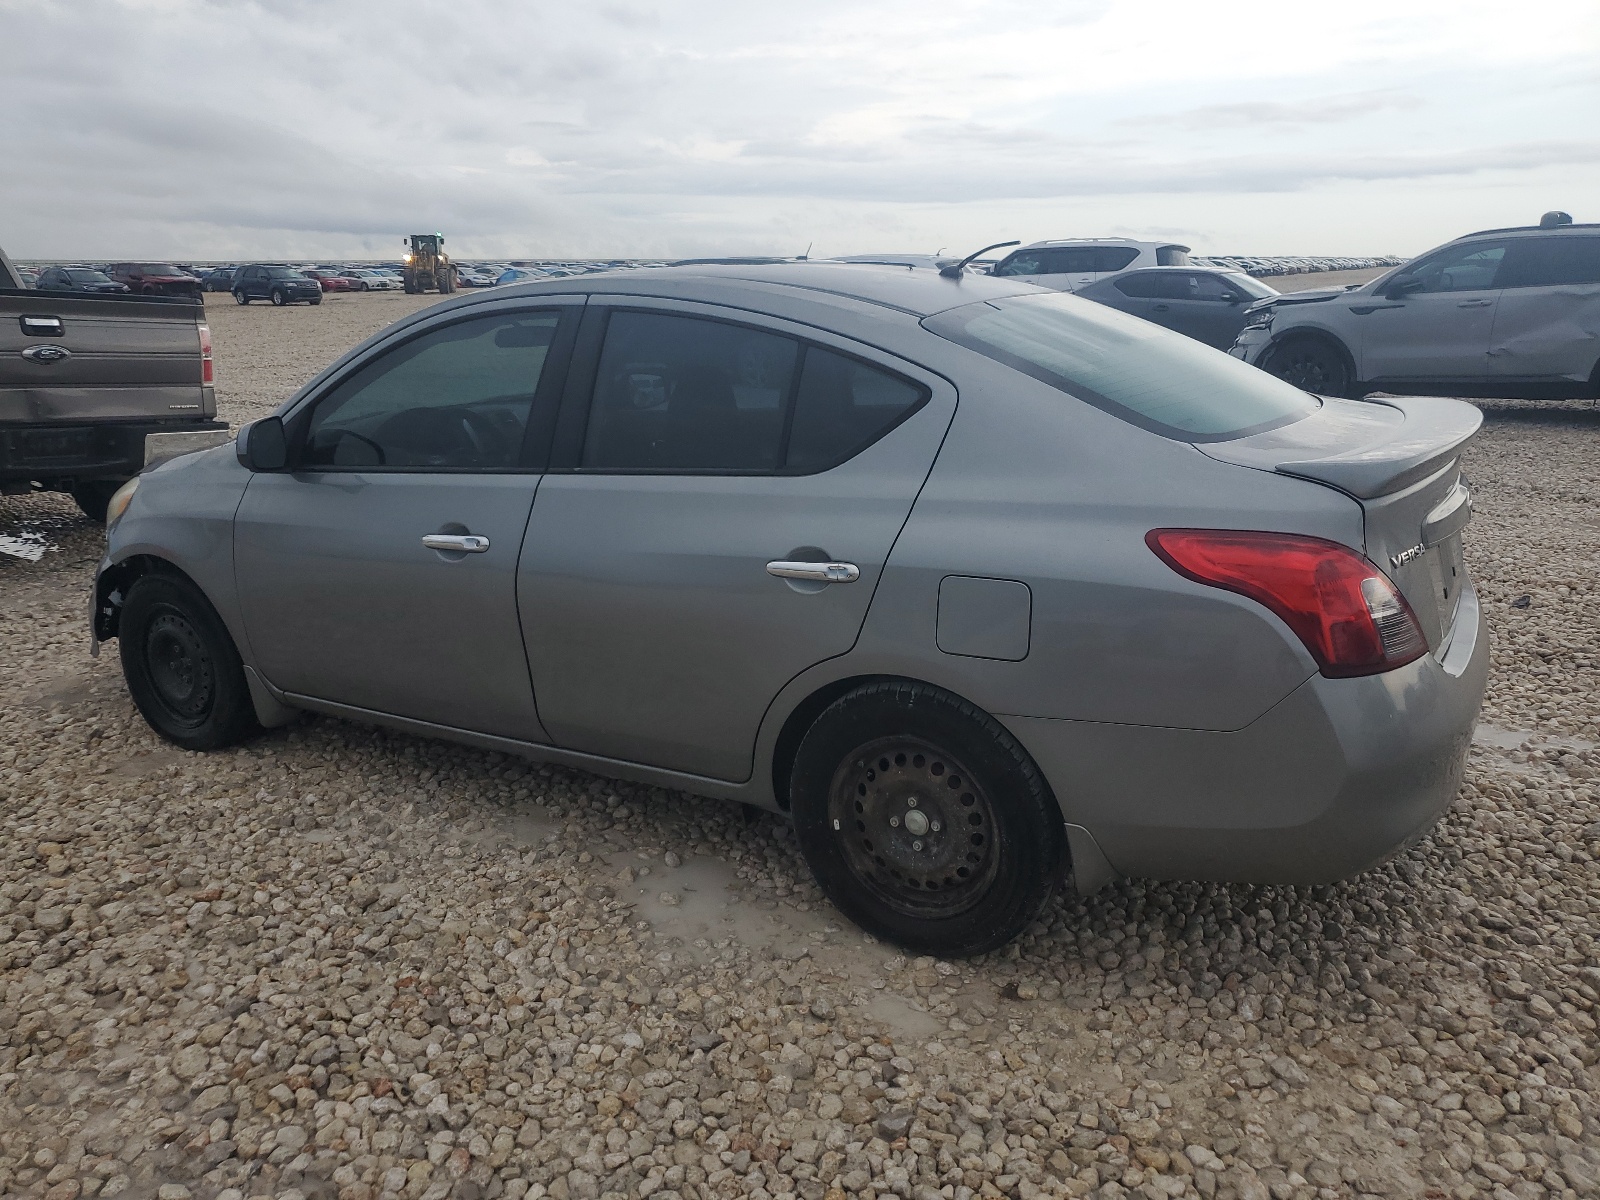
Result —
[[[198, 634], [211, 661], [214, 694], [210, 712], [198, 723], [178, 722], [166, 710], [150, 680], [144, 646], [150, 622], [162, 613], [178, 613]], [[245, 669], [222, 618], [200, 589], [170, 574], [146, 574], [134, 581], [123, 602], [117, 650], [128, 694], [144, 720], [166, 741], [186, 750], [214, 750], [232, 746], [256, 726]]]

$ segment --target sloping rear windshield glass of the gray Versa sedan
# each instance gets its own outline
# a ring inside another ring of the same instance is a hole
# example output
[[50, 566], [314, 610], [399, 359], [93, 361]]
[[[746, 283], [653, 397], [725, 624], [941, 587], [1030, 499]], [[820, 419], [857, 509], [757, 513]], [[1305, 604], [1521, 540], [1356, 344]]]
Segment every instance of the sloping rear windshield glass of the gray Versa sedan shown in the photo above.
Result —
[[1010, 296], [923, 326], [1181, 442], [1222, 442], [1299, 421], [1318, 402], [1179, 333], [1062, 293]]

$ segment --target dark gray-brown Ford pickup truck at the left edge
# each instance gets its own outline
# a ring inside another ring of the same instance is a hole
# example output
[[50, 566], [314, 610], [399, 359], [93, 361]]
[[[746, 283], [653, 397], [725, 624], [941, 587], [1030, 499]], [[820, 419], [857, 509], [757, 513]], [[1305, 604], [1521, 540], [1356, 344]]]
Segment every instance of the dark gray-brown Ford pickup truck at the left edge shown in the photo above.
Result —
[[0, 250], [0, 494], [104, 520], [146, 462], [226, 437], [198, 299], [32, 291]]

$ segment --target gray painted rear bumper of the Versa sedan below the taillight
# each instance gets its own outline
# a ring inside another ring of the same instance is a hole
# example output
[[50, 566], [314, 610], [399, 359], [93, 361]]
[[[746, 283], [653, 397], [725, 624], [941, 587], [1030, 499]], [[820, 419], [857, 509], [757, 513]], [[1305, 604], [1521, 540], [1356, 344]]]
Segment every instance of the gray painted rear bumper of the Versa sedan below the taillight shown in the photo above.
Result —
[[1406, 848], [1451, 806], [1488, 659], [1469, 589], [1442, 656], [1315, 675], [1235, 733], [1003, 720], [1114, 869], [1330, 883]]

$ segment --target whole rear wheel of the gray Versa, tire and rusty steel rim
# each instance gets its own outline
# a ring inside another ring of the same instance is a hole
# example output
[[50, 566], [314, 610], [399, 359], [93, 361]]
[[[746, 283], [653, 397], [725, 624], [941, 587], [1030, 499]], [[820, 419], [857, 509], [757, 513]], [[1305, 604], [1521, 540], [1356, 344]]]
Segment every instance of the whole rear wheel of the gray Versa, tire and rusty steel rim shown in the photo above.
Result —
[[1027, 752], [922, 683], [870, 683], [824, 709], [795, 755], [790, 808], [838, 910], [920, 954], [1005, 946], [1067, 862], [1061, 810]]

